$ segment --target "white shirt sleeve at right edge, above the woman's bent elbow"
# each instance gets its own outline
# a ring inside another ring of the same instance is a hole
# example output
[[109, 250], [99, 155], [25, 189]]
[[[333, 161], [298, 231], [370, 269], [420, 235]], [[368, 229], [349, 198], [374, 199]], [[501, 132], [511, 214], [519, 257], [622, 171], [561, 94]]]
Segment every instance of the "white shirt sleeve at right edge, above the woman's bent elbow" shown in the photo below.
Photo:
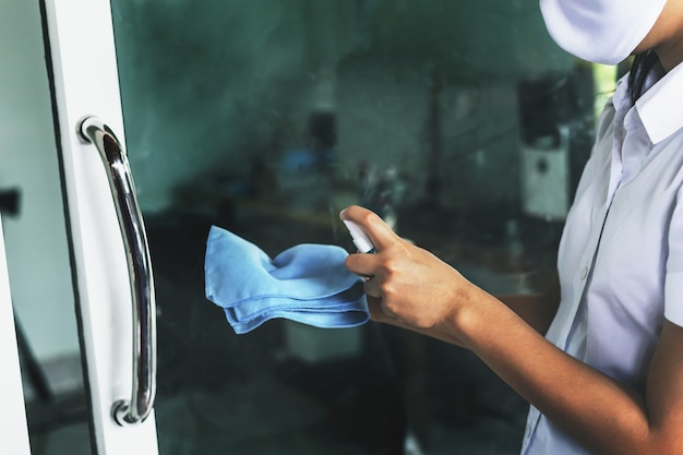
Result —
[[679, 189], [669, 226], [664, 318], [683, 326], [683, 187]]

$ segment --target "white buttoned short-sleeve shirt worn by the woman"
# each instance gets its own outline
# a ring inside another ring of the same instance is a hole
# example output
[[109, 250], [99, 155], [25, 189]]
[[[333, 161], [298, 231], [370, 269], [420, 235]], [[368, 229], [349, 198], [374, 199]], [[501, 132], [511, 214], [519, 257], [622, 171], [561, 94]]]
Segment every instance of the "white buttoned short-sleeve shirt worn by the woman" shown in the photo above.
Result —
[[[547, 338], [644, 391], [664, 318], [683, 326], [683, 64], [635, 107], [626, 88], [600, 118], [567, 215]], [[522, 453], [589, 454], [534, 407]]]

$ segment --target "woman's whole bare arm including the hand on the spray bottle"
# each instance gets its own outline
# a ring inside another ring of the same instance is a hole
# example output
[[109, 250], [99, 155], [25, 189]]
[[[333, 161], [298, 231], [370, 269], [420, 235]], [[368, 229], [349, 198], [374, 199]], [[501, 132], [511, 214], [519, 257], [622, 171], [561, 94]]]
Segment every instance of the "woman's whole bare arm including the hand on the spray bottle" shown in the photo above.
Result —
[[343, 212], [378, 249], [351, 254], [376, 319], [475, 351], [548, 418], [599, 454], [683, 453], [683, 328], [666, 323], [646, 393], [558, 349], [520, 314], [431, 253], [403, 241], [373, 213]]

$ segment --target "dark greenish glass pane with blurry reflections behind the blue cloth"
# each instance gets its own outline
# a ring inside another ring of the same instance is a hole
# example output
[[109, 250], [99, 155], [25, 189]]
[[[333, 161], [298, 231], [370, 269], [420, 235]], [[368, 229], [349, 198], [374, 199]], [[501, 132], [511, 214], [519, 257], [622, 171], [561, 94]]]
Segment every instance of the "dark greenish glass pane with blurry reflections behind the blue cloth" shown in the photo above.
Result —
[[[594, 71], [508, 0], [113, 2], [159, 306], [163, 454], [517, 453], [526, 405], [469, 352], [368, 324], [237, 336], [208, 227], [352, 251], [372, 208], [493, 292], [542, 288], [595, 124]], [[238, 259], [236, 259], [238, 260]]]

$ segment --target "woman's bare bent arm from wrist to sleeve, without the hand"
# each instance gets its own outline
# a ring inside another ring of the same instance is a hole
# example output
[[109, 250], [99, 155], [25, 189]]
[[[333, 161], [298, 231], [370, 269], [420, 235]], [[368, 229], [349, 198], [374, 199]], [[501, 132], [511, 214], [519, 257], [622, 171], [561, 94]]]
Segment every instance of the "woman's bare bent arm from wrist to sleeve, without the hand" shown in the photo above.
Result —
[[664, 323], [643, 394], [561, 351], [492, 297], [472, 302], [479, 308], [446, 320], [446, 331], [591, 452], [683, 453], [683, 328]]

